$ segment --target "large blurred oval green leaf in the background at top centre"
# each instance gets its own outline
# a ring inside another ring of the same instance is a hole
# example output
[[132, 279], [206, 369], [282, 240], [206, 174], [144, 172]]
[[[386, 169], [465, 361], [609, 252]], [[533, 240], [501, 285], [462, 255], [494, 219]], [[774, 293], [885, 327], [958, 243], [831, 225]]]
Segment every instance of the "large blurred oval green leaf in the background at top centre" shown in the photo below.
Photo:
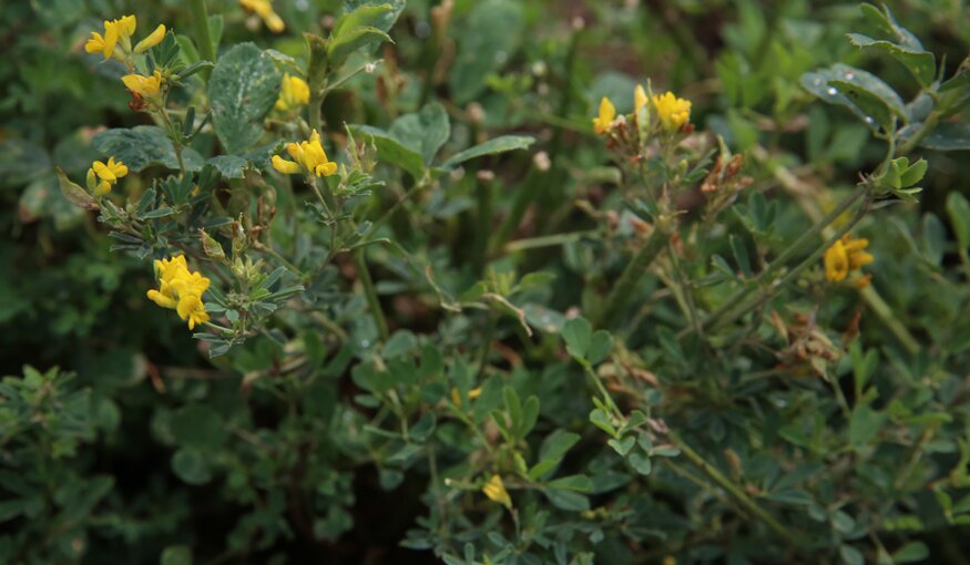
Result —
[[464, 25], [458, 28], [461, 41], [449, 79], [457, 104], [464, 105], [474, 100], [484, 90], [486, 79], [500, 71], [515, 54], [524, 27], [524, 13], [519, 2], [474, 2]]

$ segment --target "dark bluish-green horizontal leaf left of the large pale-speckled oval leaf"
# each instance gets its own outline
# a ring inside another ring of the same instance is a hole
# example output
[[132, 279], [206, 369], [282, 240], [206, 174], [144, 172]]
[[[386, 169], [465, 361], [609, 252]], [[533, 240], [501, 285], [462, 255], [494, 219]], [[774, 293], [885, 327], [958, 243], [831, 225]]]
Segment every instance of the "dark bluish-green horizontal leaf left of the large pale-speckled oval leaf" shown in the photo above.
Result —
[[[108, 130], [92, 137], [91, 146], [105, 156], [121, 161], [132, 173], [153, 165], [178, 170], [178, 157], [172, 141], [164, 130], [154, 125]], [[182, 162], [186, 171], [201, 171], [204, 165], [202, 156], [192, 147], [182, 150]]]

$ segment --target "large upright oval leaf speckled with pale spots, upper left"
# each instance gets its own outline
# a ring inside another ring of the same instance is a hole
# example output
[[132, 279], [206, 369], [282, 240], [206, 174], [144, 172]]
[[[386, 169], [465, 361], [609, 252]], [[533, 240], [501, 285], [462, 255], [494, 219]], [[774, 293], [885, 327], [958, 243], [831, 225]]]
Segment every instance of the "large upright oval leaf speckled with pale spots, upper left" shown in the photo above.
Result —
[[215, 133], [228, 153], [242, 153], [263, 136], [263, 119], [279, 96], [280, 72], [253, 43], [226, 51], [212, 71], [208, 96]]

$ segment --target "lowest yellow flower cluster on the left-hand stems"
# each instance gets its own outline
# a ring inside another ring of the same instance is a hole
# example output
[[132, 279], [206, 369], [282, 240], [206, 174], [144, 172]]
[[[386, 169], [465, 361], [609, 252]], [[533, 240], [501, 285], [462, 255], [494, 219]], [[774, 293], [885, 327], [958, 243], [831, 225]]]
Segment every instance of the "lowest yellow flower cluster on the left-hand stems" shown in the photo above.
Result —
[[208, 321], [202, 295], [208, 290], [210, 280], [198, 271], [188, 270], [184, 255], [156, 260], [155, 278], [159, 279], [159, 289], [149, 290], [150, 300], [162, 308], [175, 310], [180, 318], [188, 322], [188, 329]]

